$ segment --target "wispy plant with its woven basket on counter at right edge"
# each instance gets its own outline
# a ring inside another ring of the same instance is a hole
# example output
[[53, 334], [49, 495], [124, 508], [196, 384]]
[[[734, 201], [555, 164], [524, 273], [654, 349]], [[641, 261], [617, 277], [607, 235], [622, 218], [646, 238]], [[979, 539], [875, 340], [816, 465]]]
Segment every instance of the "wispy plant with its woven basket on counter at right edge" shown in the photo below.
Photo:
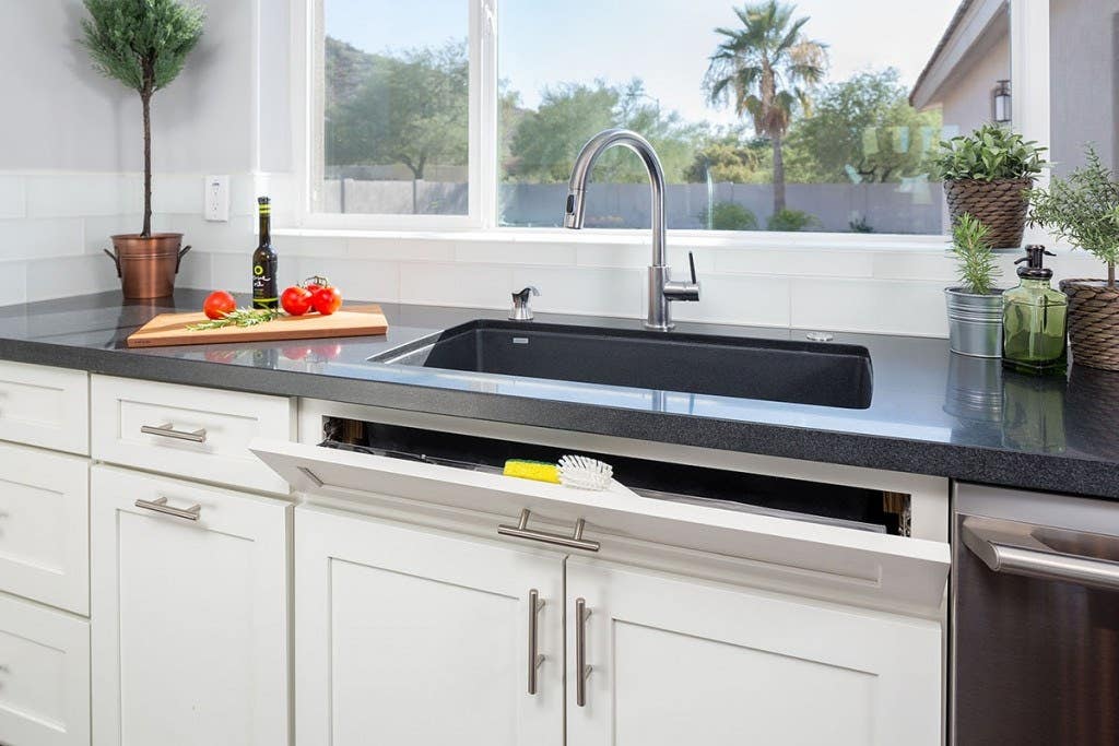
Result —
[[1085, 164], [1066, 179], [1031, 191], [1029, 221], [1107, 265], [1107, 280], [1062, 280], [1061, 290], [1069, 296], [1073, 361], [1119, 370], [1119, 182], [1094, 148], [1087, 145], [1084, 154]]

